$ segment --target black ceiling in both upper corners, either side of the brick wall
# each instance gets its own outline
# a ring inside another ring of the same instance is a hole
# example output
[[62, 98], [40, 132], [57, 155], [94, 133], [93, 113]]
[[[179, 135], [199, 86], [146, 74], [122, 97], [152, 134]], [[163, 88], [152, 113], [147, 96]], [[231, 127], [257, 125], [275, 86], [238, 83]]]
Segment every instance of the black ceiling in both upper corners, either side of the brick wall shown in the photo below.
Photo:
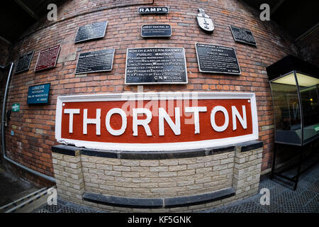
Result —
[[[241, 0], [259, 10], [261, 4], [270, 6], [270, 19], [296, 39], [319, 24], [318, 0]], [[48, 12], [47, 5], [63, 0], [10, 0], [1, 2], [0, 38], [14, 43], [20, 35]]]

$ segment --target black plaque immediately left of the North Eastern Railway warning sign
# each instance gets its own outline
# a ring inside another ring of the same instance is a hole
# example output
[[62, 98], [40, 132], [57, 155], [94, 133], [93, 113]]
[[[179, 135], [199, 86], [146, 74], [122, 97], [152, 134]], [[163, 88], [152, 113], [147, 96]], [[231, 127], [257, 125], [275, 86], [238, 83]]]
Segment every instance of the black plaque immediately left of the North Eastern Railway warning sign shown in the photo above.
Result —
[[111, 71], [114, 51], [114, 49], [106, 49], [80, 53], [75, 74]]

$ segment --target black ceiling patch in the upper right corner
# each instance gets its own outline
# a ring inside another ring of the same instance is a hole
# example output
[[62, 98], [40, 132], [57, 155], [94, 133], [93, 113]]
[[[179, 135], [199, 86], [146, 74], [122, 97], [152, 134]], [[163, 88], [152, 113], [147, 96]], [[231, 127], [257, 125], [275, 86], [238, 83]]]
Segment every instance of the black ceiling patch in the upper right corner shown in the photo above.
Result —
[[279, 25], [293, 39], [297, 39], [311, 28], [319, 25], [318, 0], [241, 0], [258, 11], [261, 4], [269, 4], [270, 20]]

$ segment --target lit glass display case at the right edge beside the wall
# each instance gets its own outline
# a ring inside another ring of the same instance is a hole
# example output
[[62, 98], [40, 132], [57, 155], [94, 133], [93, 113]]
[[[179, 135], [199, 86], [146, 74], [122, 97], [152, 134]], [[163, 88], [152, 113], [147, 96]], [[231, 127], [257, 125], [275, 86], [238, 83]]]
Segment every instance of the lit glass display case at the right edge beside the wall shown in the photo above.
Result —
[[269, 82], [275, 143], [306, 145], [319, 138], [319, 79], [291, 71]]

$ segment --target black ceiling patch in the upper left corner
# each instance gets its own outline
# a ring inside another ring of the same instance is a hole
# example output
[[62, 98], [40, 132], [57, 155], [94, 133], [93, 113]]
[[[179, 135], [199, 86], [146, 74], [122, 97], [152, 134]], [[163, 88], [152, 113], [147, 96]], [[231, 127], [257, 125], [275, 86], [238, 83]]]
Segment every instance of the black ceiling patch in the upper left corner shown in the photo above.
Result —
[[6, 0], [0, 7], [0, 38], [14, 43], [47, 10], [48, 4], [61, 4], [62, 0]]

